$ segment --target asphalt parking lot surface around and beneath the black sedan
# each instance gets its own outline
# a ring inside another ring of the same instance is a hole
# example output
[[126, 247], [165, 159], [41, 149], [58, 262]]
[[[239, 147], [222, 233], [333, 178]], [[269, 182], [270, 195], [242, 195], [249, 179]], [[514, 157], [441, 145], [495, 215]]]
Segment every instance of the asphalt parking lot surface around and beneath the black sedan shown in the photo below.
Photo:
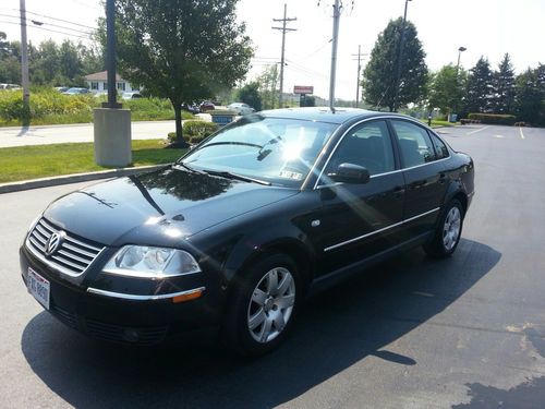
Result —
[[0, 396], [5, 408], [543, 408], [545, 130], [458, 127], [476, 189], [450, 260], [415, 250], [312, 299], [255, 361], [206, 342], [105, 346], [26, 293], [31, 220], [78, 185], [0, 197]]

